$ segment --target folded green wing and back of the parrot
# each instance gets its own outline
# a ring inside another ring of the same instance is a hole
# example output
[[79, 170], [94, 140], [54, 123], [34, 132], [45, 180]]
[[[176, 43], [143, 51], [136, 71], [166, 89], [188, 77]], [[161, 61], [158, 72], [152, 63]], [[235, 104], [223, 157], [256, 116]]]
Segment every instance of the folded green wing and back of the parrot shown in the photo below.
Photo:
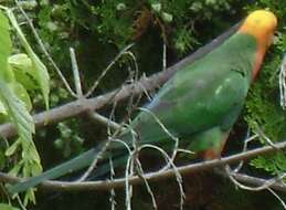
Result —
[[[180, 70], [146, 106], [172, 135], [190, 136], [216, 126], [226, 130], [236, 120], [250, 86], [255, 51], [255, 45], [246, 43], [240, 52], [242, 45], [233, 44], [240, 39], [246, 38], [232, 39]], [[148, 112], [135, 118], [133, 128], [142, 143], [168, 139]]]

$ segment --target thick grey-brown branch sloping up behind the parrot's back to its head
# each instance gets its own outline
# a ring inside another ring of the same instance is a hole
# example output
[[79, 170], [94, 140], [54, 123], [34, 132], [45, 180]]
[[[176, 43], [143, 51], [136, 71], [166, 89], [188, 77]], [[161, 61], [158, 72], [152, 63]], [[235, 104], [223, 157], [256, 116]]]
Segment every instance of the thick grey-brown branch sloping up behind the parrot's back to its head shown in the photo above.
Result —
[[[229, 31], [224, 32], [205, 46], [199, 49], [193, 54], [187, 56], [171, 67], [168, 67], [166, 71], [157, 73], [148, 78], [142, 77], [134, 84], [124, 85], [120, 88], [96, 96], [94, 98], [80, 98], [65, 105], [52, 108], [50, 111], [35, 114], [33, 116], [35, 126], [42, 127], [45, 125], [57, 123], [70, 117], [75, 117], [81, 114], [98, 109], [104, 105], [125, 99], [131, 94], [135, 95], [140, 94], [144, 91], [155, 90], [162, 85], [166, 81], [168, 81], [176, 73], [176, 71], [202, 57], [203, 55], [219, 46], [221, 43], [223, 43], [231, 34], [233, 34], [237, 30], [239, 25], [240, 23], [235, 24]], [[8, 138], [14, 136], [15, 134], [15, 128], [14, 126], [12, 126], [12, 124], [3, 124], [0, 126], [0, 135], [2, 137]]]

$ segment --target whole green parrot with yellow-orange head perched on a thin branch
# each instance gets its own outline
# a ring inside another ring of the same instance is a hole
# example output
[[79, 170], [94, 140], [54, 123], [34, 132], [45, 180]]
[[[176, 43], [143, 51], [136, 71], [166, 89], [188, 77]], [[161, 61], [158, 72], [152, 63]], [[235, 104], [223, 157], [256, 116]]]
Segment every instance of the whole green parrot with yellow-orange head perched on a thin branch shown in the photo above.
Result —
[[[248, 14], [239, 30], [220, 46], [176, 72], [135, 117], [129, 129], [116, 138], [133, 146], [135, 136], [139, 145], [170, 148], [173, 145], [170, 136], [173, 136], [180, 146], [203, 153], [205, 159], [219, 157], [243, 107], [250, 84], [261, 69], [276, 25], [277, 19], [269, 11], [257, 10]], [[10, 186], [9, 191], [21, 192], [44, 180], [88, 167], [104, 145], [102, 143], [40, 176]], [[120, 165], [127, 150], [123, 144], [112, 141], [97, 169], [105, 167], [108, 170], [106, 165], [110, 156]]]

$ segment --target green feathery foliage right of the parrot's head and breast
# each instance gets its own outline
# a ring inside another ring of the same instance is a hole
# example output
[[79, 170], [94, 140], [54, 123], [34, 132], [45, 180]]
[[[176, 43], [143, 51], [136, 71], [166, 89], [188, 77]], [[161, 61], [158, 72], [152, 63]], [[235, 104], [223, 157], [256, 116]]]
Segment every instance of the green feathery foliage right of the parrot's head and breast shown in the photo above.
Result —
[[[279, 106], [278, 66], [280, 65], [286, 49], [286, 2], [285, 1], [256, 1], [248, 6], [247, 10], [256, 8], [269, 8], [279, 21], [278, 30], [274, 39], [274, 45], [267, 54], [266, 62], [259, 73], [258, 82], [255, 83], [246, 103], [244, 118], [250, 127], [255, 130], [258, 125], [261, 129], [274, 143], [286, 139], [286, 115]], [[262, 138], [259, 141], [267, 145]], [[277, 153], [271, 156], [255, 158], [251, 165], [264, 169], [273, 175], [286, 171], [286, 156]]]

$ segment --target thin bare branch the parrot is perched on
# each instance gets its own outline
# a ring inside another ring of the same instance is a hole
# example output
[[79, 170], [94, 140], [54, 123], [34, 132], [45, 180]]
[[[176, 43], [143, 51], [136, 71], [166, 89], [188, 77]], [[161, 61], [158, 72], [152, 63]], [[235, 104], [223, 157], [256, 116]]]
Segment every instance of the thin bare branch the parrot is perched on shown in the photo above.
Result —
[[[286, 147], [286, 141], [276, 144], [276, 148], [283, 149]], [[189, 172], [198, 172], [202, 170], [210, 170], [218, 166], [224, 166], [226, 164], [237, 162], [242, 159], [250, 159], [256, 157], [257, 155], [264, 155], [274, 153], [276, 149], [272, 146], [265, 146], [257, 149], [252, 149], [245, 153], [241, 153], [237, 155], [224, 157], [221, 159], [208, 160], [204, 162], [191, 164], [187, 166], [178, 167], [178, 171], [181, 175], [186, 175]], [[146, 180], [162, 180], [174, 176], [174, 171], [172, 169], [168, 169], [166, 171], [160, 172], [149, 172], [144, 177]], [[138, 176], [134, 176], [129, 178], [130, 185], [140, 183], [141, 179]], [[64, 181], [44, 181], [41, 187], [51, 190], [59, 191], [72, 191], [72, 190], [109, 190], [112, 188], [120, 188], [125, 185], [125, 178], [115, 179], [114, 181], [86, 181], [81, 183], [75, 182], [64, 182]]]

